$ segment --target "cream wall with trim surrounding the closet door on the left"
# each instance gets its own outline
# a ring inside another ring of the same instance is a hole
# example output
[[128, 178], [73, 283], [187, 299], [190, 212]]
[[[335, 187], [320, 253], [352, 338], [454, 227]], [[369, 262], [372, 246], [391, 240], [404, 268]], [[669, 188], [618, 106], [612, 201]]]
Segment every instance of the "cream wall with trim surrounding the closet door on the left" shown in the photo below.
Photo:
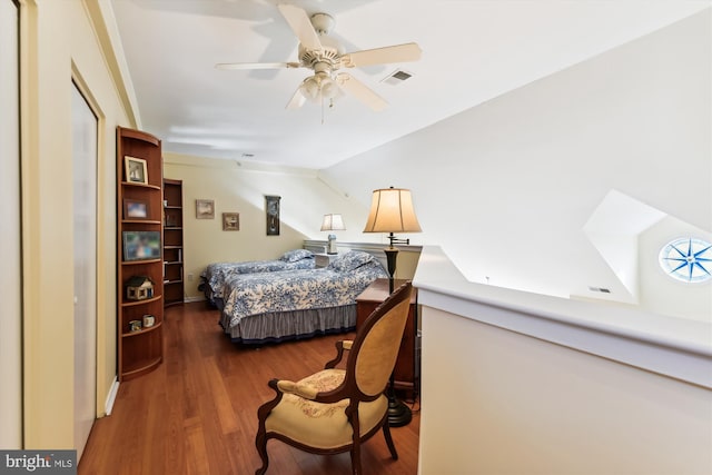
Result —
[[[116, 375], [116, 126], [126, 108], [98, 2], [21, 2], [23, 447], [72, 448], [72, 80], [98, 116], [97, 414]], [[93, 17], [96, 19], [96, 17]], [[102, 34], [103, 33], [103, 34]]]

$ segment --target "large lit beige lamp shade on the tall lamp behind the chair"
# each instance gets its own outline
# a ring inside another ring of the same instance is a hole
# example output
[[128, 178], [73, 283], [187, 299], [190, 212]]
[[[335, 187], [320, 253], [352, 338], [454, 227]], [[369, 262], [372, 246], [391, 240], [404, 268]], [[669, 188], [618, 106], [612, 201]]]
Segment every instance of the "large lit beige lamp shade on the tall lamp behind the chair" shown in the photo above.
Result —
[[364, 232], [421, 232], [411, 190], [385, 188], [374, 190], [370, 214]]

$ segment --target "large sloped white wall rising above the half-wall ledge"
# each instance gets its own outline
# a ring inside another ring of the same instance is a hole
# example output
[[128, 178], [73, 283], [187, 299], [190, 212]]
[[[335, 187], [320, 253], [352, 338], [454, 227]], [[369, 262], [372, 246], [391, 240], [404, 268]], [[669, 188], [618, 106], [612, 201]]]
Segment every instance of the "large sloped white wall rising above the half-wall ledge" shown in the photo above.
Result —
[[374, 188], [411, 188], [424, 230], [414, 243], [442, 246], [473, 281], [625, 295], [583, 232], [610, 190], [712, 229], [710, 17], [706, 10], [322, 176], [365, 205]]

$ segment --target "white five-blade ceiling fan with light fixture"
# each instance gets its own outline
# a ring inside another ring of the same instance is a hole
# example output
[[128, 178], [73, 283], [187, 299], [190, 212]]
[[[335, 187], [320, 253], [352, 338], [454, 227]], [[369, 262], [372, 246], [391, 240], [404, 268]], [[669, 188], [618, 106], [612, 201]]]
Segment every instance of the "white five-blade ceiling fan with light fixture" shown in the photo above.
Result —
[[421, 59], [417, 43], [396, 44], [354, 52], [344, 52], [340, 44], [328, 33], [334, 28], [334, 18], [326, 13], [315, 13], [310, 18], [306, 11], [293, 4], [277, 6], [291, 31], [299, 40], [298, 62], [227, 62], [218, 63], [218, 69], [281, 69], [307, 68], [314, 75], [306, 78], [287, 103], [287, 109], [298, 109], [308, 100], [320, 102], [332, 100], [342, 91], [350, 93], [373, 110], [383, 110], [388, 103], [366, 85], [348, 72], [337, 72], [342, 68], [355, 68], [388, 62], [407, 62]]

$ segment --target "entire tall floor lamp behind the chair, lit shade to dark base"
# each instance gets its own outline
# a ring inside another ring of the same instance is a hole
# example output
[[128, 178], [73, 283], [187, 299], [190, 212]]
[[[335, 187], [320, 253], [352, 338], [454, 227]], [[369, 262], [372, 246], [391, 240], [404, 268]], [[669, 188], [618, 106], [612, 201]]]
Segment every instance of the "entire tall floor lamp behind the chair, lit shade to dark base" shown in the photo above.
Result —
[[[419, 232], [421, 230], [418, 218], [415, 216], [415, 209], [413, 208], [411, 190], [394, 187], [374, 190], [370, 214], [364, 232], [388, 232], [390, 245], [384, 251], [388, 261], [388, 289], [390, 294], [393, 294], [396, 260], [398, 258], [398, 249], [394, 244], [411, 244], [411, 239], [398, 239], [394, 236], [394, 232]], [[388, 424], [393, 427], [408, 424], [413, 414], [408, 406], [396, 397], [393, 374], [390, 375], [387, 396]]]

